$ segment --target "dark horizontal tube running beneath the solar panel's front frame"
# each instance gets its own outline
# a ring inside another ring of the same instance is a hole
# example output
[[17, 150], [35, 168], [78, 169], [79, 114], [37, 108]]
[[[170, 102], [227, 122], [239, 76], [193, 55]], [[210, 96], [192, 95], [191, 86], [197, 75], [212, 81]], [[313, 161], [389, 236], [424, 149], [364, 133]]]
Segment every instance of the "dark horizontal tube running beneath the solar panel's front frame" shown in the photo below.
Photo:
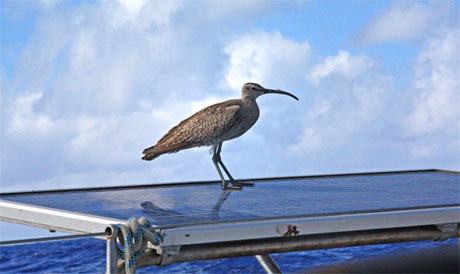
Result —
[[[444, 236], [458, 238], [459, 230], [457, 229]], [[136, 261], [136, 266], [161, 266], [178, 262], [360, 245], [438, 240], [440, 238], [441, 231], [436, 226], [419, 226], [188, 245], [181, 246], [178, 254], [169, 255], [168, 260], [162, 260], [159, 255], [150, 253], [149, 256], [144, 256], [144, 258]]]

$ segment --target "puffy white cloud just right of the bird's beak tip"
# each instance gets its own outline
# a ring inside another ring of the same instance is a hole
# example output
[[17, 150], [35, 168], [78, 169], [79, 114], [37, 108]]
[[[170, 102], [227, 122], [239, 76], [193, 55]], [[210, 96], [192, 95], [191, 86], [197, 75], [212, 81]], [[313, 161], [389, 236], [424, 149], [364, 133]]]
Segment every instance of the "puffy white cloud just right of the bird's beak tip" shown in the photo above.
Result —
[[373, 66], [366, 55], [345, 50], [320, 58], [306, 74], [315, 85], [310, 96], [313, 106], [302, 119], [303, 132], [293, 151], [311, 153], [358, 145], [364, 135], [376, 134], [376, 121], [382, 118], [393, 86], [392, 77], [370, 69]]

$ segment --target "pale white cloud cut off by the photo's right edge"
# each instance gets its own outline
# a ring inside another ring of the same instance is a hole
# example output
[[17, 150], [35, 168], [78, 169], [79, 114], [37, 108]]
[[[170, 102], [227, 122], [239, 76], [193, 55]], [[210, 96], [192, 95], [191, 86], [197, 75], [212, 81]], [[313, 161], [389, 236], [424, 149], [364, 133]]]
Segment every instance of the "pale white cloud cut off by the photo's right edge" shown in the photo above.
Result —
[[418, 54], [413, 86], [418, 93], [414, 110], [405, 119], [412, 136], [440, 131], [458, 137], [460, 124], [459, 31], [435, 36]]

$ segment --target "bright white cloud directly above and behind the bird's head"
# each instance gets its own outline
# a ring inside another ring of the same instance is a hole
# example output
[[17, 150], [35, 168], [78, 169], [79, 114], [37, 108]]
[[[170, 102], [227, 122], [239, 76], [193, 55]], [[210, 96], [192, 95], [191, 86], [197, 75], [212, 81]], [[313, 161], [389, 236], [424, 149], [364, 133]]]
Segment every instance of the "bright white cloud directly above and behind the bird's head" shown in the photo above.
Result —
[[308, 42], [298, 43], [280, 32], [255, 32], [237, 37], [226, 48], [228, 86], [240, 90], [246, 82], [279, 86], [298, 82], [310, 55]]

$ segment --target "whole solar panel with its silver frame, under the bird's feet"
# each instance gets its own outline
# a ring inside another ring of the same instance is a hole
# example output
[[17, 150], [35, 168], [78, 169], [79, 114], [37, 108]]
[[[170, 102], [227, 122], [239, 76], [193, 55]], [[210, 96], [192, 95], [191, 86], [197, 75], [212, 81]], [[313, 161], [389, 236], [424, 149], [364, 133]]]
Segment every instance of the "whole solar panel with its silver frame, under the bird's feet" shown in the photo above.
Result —
[[[141, 265], [460, 234], [459, 172], [246, 181], [254, 187], [222, 191], [220, 182], [197, 182], [3, 193], [0, 220], [94, 236], [128, 218], [147, 217], [161, 252], [142, 257]], [[111, 270], [115, 246], [107, 241]]]

